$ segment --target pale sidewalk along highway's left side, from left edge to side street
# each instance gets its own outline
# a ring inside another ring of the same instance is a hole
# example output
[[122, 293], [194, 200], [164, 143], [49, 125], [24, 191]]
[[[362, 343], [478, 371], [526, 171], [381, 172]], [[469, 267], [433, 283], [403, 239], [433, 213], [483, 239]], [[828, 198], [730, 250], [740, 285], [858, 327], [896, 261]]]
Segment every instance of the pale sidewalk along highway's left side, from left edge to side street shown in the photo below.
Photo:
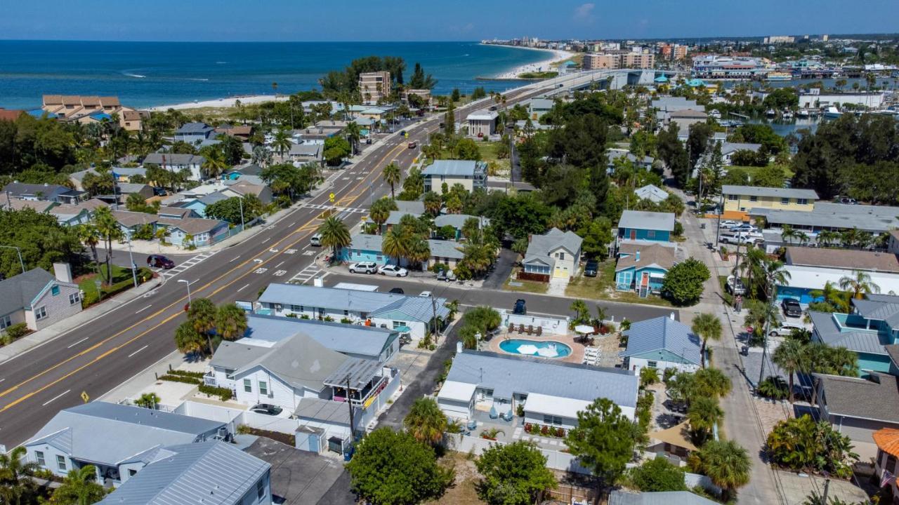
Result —
[[93, 306], [87, 307], [76, 315], [68, 317], [58, 323], [51, 324], [43, 330], [31, 332], [19, 340], [13, 341], [13, 343], [9, 345], [0, 347], [0, 364], [3, 364], [9, 359], [13, 359], [28, 350], [52, 341], [63, 333], [70, 332], [87, 323], [93, 323], [98, 317], [108, 314], [136, 298], [152, 297], [156, 292], [156, 288], [159, 288], [163, 284], [165, 284], [165, 278], [162, 276], [156, 279], [150, 279], [139, 285], [137, 288], [130, 288], [114, 297], [104, 298], [102, 302], [93, 304]]

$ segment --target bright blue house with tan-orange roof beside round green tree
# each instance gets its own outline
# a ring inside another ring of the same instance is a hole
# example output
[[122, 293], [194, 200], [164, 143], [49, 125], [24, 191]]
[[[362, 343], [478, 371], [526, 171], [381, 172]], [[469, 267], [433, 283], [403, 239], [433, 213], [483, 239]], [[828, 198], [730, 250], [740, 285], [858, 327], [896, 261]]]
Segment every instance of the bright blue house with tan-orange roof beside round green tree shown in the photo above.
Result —
[[615, 265], [615, 288], [636, 291], [641, 297], [662, 291], [668, 270], [674, 265], [674, 248], [662, 244], [625, 243]]

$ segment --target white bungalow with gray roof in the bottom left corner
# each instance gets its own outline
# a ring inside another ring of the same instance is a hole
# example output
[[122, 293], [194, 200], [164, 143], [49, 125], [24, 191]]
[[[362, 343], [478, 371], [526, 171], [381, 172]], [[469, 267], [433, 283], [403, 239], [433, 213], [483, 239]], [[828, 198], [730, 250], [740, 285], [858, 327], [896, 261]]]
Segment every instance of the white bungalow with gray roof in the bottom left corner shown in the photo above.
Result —
[[153, 461], [160, 447], [229, 438], [223, 422], [91, 402], [59, 411], [23, 446], [28, 461], [58, 477], [93, 465], [97, 481], [119, 486]]

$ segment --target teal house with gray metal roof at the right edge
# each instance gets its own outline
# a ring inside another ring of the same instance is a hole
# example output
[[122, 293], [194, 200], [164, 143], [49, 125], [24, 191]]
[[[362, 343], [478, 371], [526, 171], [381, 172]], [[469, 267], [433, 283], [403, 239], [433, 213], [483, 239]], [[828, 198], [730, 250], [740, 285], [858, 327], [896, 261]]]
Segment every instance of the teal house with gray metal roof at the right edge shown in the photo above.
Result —
[[859, 369], [895, 373], [886, 346], [899, 343], [899, 297], [867, 295], [852, 300], [851, 314], [809, 311], [812, 340], [845, 347], [859, 357]]

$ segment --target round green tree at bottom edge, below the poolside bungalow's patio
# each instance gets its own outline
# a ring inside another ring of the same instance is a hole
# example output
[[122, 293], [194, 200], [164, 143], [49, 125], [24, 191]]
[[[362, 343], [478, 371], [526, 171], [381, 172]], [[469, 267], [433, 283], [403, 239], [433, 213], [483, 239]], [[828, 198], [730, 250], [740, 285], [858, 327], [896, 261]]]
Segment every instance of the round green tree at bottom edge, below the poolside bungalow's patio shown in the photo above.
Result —
[[556, 487], [556, 475], [547, 468], [547, 456], [532, 442], [491, 444], [475, 465], [483, 476], [478, 495], [487, 503], [530, 505]]

